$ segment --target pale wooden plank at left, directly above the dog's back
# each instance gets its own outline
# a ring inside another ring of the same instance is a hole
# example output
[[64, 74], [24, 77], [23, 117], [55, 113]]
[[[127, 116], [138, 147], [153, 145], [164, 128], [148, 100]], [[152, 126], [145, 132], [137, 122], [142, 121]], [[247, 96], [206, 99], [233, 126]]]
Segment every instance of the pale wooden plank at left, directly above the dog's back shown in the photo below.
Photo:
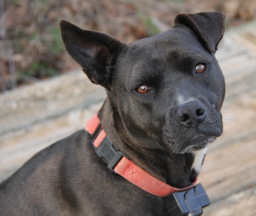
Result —
[[54, 119], [40, 121], [28, 129], [2, 136], [0, 139], [0, 182], [22, 166], [30, 157], [50, 144], [83, 129], [101, 107], [94, 103], [87, 109], [76, 108]]

